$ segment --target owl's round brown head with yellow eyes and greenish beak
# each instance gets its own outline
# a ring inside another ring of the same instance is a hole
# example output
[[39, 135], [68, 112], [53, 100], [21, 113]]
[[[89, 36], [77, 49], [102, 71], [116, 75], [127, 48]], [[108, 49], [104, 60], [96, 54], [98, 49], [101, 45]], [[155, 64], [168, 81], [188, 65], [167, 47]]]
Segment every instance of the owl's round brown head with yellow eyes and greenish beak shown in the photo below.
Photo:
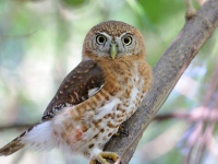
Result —
[[142, 34], [134, 26], [119, 21], [97, 24], [87, 33], [83, 58], [145, 57]]

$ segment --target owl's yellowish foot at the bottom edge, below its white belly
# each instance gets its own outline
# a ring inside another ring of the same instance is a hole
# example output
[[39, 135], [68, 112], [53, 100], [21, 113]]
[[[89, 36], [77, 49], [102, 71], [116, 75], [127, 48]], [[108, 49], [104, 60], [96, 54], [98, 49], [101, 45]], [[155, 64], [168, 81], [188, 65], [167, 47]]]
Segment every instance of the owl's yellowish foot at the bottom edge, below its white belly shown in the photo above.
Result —
[[117, 153], [101, 152], [96, 156], [96, 159], [92, 160], [89, 164], [97, 164], [97, 162], [99, 162], [100, 164], [110, 164], [109, 162], [107, 162], [106, 159], [110, 159], [116, 162], [118, 160], [118, 157], [119, 156]]

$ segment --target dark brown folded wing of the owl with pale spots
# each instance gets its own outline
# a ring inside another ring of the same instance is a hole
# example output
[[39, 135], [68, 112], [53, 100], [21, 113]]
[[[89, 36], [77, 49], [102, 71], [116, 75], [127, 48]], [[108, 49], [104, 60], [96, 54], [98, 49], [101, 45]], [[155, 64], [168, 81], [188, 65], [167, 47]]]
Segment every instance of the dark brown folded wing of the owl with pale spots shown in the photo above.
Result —
[[61, 83], [46, 108], [43, 120], [52, 118], [65, 106], [77, 105], [88, 98], [92, 89], [99, 90], [105, 83], [104, 72], [93, 60], [82, 61]]

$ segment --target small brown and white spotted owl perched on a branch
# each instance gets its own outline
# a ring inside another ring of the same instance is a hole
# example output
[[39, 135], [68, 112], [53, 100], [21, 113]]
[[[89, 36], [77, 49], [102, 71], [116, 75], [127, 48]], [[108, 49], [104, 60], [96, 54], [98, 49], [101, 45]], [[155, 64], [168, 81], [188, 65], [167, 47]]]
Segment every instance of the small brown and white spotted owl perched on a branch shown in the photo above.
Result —
[[85, 37], [82, 61], [63, 80], [41, 121], [1, 148], [0, 155], [24, 147], [58, 148], [66, 156], [83, 154], [89, 164], [116, 161], [118, 154], [102, 149], [137, 109], [150, 83], [140, 31], [119, 21], [97, 24]]

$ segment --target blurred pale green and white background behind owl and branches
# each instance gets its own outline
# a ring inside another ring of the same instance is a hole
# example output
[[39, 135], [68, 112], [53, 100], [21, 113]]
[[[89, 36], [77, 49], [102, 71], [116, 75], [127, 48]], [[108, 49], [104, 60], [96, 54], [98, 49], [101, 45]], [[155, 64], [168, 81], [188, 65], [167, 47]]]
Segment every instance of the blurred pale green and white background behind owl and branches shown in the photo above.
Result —
[[[92, 26], [108, 20], [136, 26], [144, 35], [147, 61], [154, 67], [183, 27], [184, 11], [183, 0], [0, 0], [0, 147], [25, 130], [1, 127], [40, 120], [63, 78], [80, 62], [83, 40]], [[201, 113], [197, 107], [203, 105], [218, 63], [217, 39], [218, 32], [192, 61], [159, 114]], [[217, 95], [214, 94], [214, 99]], [[154, 121], [130, 164], [185, 163], [193, 148], [195, 125], [185, 118]], [[199, 163], [218, 161], [216, 128], [215, 125]], [[194, 149], [197, 151], [197, 147]], [[49, 153], [22, 150], [0, 156], [0, 163], [87, 161], [77, 155], [66, 161], [57, 150]]]

